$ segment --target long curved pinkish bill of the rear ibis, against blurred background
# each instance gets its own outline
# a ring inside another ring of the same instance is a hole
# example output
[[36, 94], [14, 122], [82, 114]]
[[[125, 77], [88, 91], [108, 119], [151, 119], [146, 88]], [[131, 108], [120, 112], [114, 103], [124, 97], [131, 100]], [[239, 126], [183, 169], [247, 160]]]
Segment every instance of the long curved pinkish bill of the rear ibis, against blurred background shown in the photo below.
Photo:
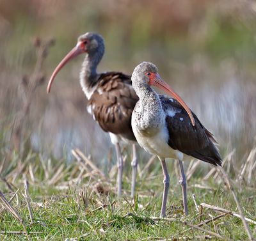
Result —
[[63, 66], [66, 65], [66, 63], [68, 63], [68, 61], [70, 61], [70, 59], [73, 59], [74, 57], [76, 57], [79, 54], [82, 54], [83, 52], [85, 52], [84, 50], [84, 46], [83, 46], [83, 42], [78, 42], [76, 47], [74, 47], [66, 56], [65, 58], [63, 58], [61, 60], [61, 62], [59, 63], [59, 65], [55, 68], [54, 72], [52, 73], [51, 79], [48, 82], [48, 86], [47, 86], [47, 93], [50, 93], [51, 91], [51, 86], [52, 86], [52, 82], [54, 81], [54, 78], [56, 77], [56, 75], [58, 74], [58, 72], [61, 70], [61, 68]]

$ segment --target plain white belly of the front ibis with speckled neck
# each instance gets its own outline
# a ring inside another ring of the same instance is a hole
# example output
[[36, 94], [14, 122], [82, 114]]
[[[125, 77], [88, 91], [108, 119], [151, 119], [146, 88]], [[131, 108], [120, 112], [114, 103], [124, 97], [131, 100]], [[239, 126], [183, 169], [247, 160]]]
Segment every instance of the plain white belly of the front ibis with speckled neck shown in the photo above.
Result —
[[[136, 125], [136, 124], [135, 124]], [[168, 145], [168, 131], [164, 126], [162, 128], [157, 128], [152, 134], [143, 133], [143, 131], [138, 130], [138, 128], [132, 123], [132, 130], [134, 136], [136, 137], [138, 143], [147, 152], [157, 155], [161, 158], [175, 158], [177, 157], [177, 151], [173, 150]]]

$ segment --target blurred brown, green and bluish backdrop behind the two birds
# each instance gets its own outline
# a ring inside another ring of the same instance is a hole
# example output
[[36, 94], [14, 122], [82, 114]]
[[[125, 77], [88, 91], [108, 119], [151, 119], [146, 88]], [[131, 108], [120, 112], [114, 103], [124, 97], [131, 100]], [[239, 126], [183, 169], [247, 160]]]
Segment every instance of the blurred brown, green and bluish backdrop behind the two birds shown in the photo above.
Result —
[[71, 61], [46, 94], [54, 68], [88, 31], [100, 33], [106, 54], [99, 71], [132, 74], [141, 61], [155, 63], [202, 123], [221, 153], [251, 150], [256, 136], [256, 3], [254, 1], [0, 1], [0, 128], [4, 150], [22, 108], [22, 76], [36, 55], [32, 40], [54, 38], [44, 63], [47, 76], [36, 89], [23, 136], [45, 155], [79, 147], [97, 160], [111, 143], [86, 113], [79, 86], [83, 56]]

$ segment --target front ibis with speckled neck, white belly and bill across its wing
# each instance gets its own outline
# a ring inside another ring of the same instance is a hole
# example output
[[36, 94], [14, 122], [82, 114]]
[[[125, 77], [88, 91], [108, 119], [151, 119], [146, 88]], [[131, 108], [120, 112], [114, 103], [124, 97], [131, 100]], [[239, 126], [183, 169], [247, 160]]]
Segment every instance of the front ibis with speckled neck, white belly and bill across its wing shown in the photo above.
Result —
[[[158, 95], [151, 86], [162, 89], [175, 100]], [[216, 141], [182, 98], [161, 79], [157, 67], [152, 63], [143, 62], [136, 66], [132, 74], [132, 87], [140, 98], [132, 112], [132, 130], [140, 146], [157, 155], [163, 169], [161, 217], [166, 216], [170, 178], [165, 159], [168, 157], [179, 160], [184, 213], [188, 215], [183, 153], [221, 166], [220, 153], [214, 144]]]

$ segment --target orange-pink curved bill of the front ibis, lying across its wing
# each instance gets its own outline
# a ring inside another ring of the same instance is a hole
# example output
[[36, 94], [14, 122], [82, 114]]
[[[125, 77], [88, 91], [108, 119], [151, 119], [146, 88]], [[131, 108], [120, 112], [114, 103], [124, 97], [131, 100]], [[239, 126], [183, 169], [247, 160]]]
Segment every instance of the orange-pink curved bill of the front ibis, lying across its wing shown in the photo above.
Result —
[[154, 76], [152, 76], [152, 79], [150, 79], [150, 81], [148, 82], [148, 84], [152, 85], [152, 86], [156, 86], [159, 89], [162, 89], [164, 92], [166, 92], [167, 94], [171, 95], [173, 98], [175, 98], [176, 100], [178, 100], [180, 102], [180, 105], [182, 105], [182, 107], [186, 110], [186, 112], [189, 115], [189, 118], [191, 120], [191, 123], [193, 126], [195, 126], [195, 119], [193, 117], [193, 114], [191, 113], [188, 105], [184, 102], [184, 100], [182, 100], [182, 98], [173, 90], [173, 88], [171, 88], [166, 82], [163, 81], [163, 79], [161, 79], [159, 74], [156, 74]]

